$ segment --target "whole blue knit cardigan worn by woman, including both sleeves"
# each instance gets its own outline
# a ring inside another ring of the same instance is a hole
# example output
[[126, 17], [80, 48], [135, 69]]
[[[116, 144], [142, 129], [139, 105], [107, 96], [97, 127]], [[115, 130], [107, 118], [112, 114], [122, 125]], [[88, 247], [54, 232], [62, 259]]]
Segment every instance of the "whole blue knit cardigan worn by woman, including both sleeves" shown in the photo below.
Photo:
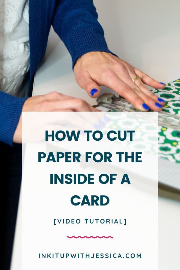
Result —
[[[29, 0], [30, 84], [46, 45], [51, 25], [76, 59], [90, 51], [110, 52], [92, 0]], [[27, 97], [28, 98], [28, 97]], [[0, 141], [12, 145], [26, 98], [0, 91]]]

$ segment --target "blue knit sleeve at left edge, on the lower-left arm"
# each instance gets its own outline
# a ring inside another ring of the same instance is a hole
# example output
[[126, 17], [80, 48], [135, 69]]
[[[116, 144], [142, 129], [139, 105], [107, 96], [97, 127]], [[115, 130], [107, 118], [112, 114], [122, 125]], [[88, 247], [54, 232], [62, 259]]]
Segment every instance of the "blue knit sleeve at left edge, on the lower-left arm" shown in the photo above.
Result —
[[0, 141], [12, 146], [13, 135], [27, 98], [16, 98], [0, 92]]

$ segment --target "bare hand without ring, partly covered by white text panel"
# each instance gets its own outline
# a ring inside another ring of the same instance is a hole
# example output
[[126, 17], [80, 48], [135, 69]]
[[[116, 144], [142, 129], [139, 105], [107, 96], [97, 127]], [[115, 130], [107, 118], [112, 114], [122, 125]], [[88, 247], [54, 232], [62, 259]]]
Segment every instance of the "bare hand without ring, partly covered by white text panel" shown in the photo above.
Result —
[[[73, 98], [57, 92], [28, 98], [22, 112], [98, 112], [80, 98]], [[22, 114], [13, 136], [14, 143], [22, 143]]]

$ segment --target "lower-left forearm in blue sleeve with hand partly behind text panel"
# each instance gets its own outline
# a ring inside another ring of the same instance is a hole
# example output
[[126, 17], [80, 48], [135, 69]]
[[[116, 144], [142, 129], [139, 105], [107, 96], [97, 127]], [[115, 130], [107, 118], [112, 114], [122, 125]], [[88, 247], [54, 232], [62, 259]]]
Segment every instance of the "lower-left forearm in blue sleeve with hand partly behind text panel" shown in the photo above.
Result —
[[22, 112], [97, 112], [80, 98], [57, 92], [30, 98], [16, 98], [0, 91], [0, 142], [22, 143]]

